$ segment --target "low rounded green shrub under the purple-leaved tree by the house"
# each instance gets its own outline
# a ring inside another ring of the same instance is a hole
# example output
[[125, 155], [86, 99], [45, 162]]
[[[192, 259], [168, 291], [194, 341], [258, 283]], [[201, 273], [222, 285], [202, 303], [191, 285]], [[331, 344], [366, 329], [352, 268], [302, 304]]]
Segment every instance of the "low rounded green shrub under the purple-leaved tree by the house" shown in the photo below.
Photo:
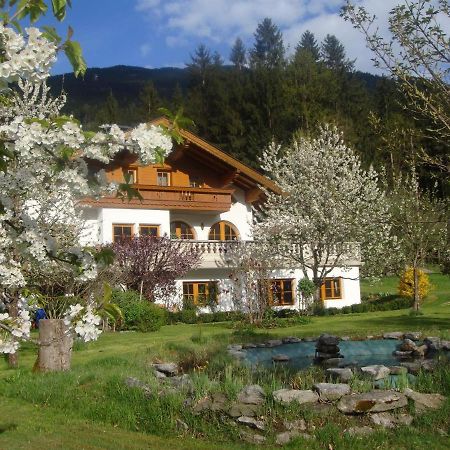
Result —
[[148, 300], [140, 300], [139, 297], [139, 293], [135, 291], [113, 292], [112, 301], [120, 307], [124, 318], [120, 329], [144, 333], [158, 331], [167, 323], [167, 312]]

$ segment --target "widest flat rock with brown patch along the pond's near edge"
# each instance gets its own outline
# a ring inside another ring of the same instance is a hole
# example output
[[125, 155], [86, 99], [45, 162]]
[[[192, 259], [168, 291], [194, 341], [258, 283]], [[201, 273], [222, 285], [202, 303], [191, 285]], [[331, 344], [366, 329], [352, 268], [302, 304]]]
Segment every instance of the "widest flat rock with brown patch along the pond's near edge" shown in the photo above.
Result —
[[363, 414], [403, 408], [408, 404], [406, 396], [394, 391], [371, 391], [342, 397], [337, 407], [344, 414]]

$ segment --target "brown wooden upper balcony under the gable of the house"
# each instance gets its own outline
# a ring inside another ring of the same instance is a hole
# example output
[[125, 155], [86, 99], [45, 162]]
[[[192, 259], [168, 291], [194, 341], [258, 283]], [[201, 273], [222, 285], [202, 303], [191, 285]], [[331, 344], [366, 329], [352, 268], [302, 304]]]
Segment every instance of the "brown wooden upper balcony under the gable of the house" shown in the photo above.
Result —
[[133, 186], [142, 200], [122, 200], [116, 197], [89, 199], [87, 204], [103, 208], [170, 209], [226, 212], [231, 208], [232, 189], [192, 188], [179, 186]]

